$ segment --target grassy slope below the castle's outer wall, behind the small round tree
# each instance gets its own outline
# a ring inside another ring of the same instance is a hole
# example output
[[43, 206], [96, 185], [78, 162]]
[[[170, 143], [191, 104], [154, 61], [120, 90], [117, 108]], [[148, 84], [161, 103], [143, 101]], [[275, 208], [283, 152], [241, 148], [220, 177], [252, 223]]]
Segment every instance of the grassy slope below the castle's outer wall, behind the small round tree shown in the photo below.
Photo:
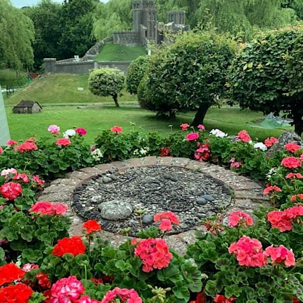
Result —
[[[83, 87], [83, 91], [78, 91]], [[6, 100], [6, 105], [16, 105], [22, 99], [35, 100], [39, 104], [113, 103], [111, 97], [98, 97], [88, 90], [88, 75], [56, 74], [35, 79], [23, 90]], [[123, 103], [136, 103], [136, 96], [124, 91]]]

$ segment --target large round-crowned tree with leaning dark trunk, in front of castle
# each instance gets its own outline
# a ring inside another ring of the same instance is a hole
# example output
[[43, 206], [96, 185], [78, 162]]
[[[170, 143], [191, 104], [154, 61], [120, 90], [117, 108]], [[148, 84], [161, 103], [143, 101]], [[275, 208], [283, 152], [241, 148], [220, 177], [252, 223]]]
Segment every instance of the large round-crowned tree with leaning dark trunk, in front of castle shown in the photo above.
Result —
[[189, 31], [174, 36], [150, 57], [145, 89], [158, 113], [197, 110], [193, 125], [202, 124], [210, 106], [226, 87], [227, 67], [236, 43], [215, 32]]

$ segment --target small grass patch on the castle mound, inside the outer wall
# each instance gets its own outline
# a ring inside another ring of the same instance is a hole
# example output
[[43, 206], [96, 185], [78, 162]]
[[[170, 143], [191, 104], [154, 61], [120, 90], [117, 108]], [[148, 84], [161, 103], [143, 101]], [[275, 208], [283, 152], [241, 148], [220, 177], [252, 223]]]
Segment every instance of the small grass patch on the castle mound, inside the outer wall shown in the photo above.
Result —
[[125, 46], [107, 43], [95, 57], [95, 61], [133, 61], [139, 56], [146, 55], [143, 46]]

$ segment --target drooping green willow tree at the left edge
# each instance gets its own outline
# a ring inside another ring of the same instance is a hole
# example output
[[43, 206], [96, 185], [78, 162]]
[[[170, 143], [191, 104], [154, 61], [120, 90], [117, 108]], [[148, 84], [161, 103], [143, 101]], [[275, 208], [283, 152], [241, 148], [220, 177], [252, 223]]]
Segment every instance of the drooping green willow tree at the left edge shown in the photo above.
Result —
[[0, 2], [0, 66], [21, 70], [33, 64], [32, 21], [9, 0]]

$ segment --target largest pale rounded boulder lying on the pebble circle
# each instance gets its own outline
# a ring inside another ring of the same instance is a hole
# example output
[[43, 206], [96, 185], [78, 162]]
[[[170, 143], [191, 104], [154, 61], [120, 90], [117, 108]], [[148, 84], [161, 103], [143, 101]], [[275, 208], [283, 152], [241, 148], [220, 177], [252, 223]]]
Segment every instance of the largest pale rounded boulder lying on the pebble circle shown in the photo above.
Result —
[[120, 200], [111, 200], [99, 205], [98, 210], [103, 219], [119, 221], [128, 218], [132, 214], [132, 206]]

